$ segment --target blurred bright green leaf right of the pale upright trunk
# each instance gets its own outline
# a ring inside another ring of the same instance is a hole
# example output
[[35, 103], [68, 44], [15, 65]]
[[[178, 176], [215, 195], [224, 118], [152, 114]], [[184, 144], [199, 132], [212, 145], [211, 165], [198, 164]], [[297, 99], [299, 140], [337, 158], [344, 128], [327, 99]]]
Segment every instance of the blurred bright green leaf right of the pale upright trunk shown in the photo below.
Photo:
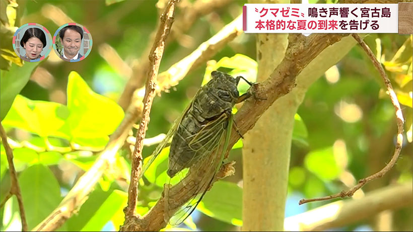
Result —
[[322, 180], [334, 180], [342, 171], [335, 162], [332, 147], [311, 151], [305, 157], [304, 164]]

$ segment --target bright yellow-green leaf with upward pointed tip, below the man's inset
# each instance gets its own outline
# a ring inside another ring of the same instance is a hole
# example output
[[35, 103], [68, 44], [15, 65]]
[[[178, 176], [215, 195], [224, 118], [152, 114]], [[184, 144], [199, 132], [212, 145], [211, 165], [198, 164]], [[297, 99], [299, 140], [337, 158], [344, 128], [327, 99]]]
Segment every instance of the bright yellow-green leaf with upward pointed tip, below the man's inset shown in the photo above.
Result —
[[72, 71], [67, 84], [67, 119], [72, 137], [96, 138], [113, 133], [122, 120], [122, 108], [93, 92], [81, 76]]

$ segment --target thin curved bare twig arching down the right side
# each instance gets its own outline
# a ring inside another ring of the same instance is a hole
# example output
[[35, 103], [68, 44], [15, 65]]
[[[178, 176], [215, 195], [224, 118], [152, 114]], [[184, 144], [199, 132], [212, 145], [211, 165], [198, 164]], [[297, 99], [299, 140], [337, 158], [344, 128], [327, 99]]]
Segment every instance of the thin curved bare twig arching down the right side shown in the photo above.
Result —
[[388, 171], [391, 170], [391, 168], [393, 168], [393, 166], [396, 164], [397, 159], [399, 157], [400, 151], [401, 151], [401, 144], [403, 142], [403, 124], [404, 124], [404, 119], [403, 119], [403, 115], [401, 113], [401, 109], [400, 109], [400, 105], [399, 102], [397, 100], [397, 96], [393, 91], [393, 87], [391, 86], [390, 80], [387, 78], [387, 75], [383, 69], [383, 67], [381, 66], [381, 64], [379, 63], [379, 61], [377, 61], [376, 56], [373, 54], [373, 52], [370, 50], [370, 48], [367, 46], [367, 44], [360, 38], [360, 36], [358, 34], [352, 34], [352, 36], [357, 40], [357, 42], [359, 42], [360, 46], [364, 49], [364, 51], [367, 53], [367, 55], [370, 57], [371, 61], [373, 62], [374, 66], [376, 67], [376, 69], [379, 71], [381, 78], [384, 81], [384, 84], [387, 88], [387, 92], [389, 93], [390, 96], [390, 100], [391, 103], [394, 106], [395, 109], [395, 114], [396, 114], [396, 123], [397, 123], [397, 142], [396, 142], [396, 146], [395, 146], [395, 150], [393, 153], [393, 156], [391, 157], [390, 162], [379, 172], [363, 178], [359, 181], [359, 183], [354, 186], [353, 188], [351, 188], [348, 191], [341, 191], [340, 193], [337, 194], [333, 194], [330, 196], [326, 196], [326, 197], [320, 197], [320, 198], [314, 198], [314, 199], [301, 199], [300, 202], [298, 204], [304, 204], [307, 202], [312, 202], [312, 201], [323, 201], [323, 200], [329, 200], [329, 199], [334, 199], [334, 198], [344, 198], [344, 197], [351, 197], [353, 196], [353, 194], [359, 190], [361, 187], [363, 187], [365, 184], [367, 184], [368, 182], [375, 180], [377, 178], [380, 178], [382, 176], [384, 176]]

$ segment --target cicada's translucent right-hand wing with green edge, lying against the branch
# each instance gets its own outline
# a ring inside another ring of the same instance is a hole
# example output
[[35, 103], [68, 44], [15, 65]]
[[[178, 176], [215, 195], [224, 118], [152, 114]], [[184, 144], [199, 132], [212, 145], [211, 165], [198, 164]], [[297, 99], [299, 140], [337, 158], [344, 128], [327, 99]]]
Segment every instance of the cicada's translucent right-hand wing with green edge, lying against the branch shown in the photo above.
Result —
[[[189, 169], [171, 178], [164, 190], [165, 219], [169, 220], [171, 225], [182, 223], [210, 189], [227, 148], [227, 135], [230, 133], [228, 126], [232, 126], [232, 121], [228, 122], [229, 118], [223, 114], [193, 136], [192, 144], [202, 141], [203, 148], [196, 150], [196, 157], [199, 158]], [[176, 182], [178, 183], [173, 185]]]

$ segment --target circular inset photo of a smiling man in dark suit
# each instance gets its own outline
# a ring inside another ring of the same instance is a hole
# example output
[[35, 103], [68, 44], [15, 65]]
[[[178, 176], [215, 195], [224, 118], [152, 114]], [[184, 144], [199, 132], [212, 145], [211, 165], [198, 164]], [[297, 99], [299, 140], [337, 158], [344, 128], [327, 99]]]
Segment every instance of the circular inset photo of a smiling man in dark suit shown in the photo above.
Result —
[[92, 35], [80, 24], [66, 23], [53, 35], [53, 50], [64, 61], [81, 61], [92, 50]]

